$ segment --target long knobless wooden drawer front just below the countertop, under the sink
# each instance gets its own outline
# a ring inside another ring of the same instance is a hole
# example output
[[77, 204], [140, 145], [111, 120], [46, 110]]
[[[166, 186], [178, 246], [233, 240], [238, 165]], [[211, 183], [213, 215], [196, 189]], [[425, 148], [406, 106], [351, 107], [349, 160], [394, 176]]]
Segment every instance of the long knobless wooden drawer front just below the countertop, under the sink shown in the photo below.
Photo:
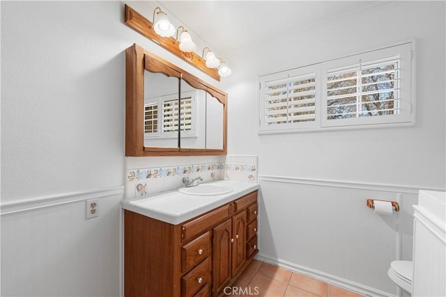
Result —
[[181, 241], [192, 239], [221, 220], [228, 218], [234, 211], [235, 205], [231, 202], [181, 225]]

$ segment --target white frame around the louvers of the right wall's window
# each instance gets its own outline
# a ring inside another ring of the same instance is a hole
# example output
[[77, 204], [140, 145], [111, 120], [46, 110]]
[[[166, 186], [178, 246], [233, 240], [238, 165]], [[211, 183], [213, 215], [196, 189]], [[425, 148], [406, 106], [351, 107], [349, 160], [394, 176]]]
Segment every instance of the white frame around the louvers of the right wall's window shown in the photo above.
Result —
[[[357, 64], [359, 61], [367, 64], [369, 61], [384, 60], [385, 58], [399, 56], [400, 63], [400, 98], [399, 104], [401, 113], [399, 115], [377, 115], [364, 116], [359, 118], [340, 118], [329, 120], [328, 116], [328, 70], [337, 67], [348, 67], [348, 65]], [[274, 79], [292, 77], [296, 74], [305, 74], [306, 70], [316, 70], [316, 114], [312, 125], [306, 122], [295, 122], [291, 124], [275, 125], [274, 129], [264, 125], [264, 90], [263, 87], [267, 81]], [[359, 54], [352, 54], [341, 58], [334, 58], [312, 65], [275, 72], [272, 74], [263, 74], [259, 76], [258, 91], [258, 116], [259, 126], [258, 134], [279, 134], [296, 133], [302, 131], [327, 131], [336, 129], [364, 129], [376, 127], [405, 127], [415, 125], [415, 40], [400, 42], [388, 47], [364, 51]], [[305, 125], [303, 125], [305, 124]]]

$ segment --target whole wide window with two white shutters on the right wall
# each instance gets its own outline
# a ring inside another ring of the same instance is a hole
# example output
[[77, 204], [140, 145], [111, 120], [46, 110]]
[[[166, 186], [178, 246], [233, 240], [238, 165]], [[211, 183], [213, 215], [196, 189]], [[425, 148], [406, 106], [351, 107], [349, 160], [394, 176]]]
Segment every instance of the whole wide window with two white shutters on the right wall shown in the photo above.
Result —
[[259, 78], [259, 133], [413, 125], [413, 42]]

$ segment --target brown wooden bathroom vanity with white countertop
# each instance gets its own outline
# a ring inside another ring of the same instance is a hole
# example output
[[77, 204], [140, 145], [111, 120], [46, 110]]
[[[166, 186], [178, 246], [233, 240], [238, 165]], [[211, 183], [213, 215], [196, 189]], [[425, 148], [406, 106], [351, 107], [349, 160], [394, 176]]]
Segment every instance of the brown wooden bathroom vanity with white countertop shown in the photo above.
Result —
[[123, 201], [125, 296], [220, 296], [252, 261], [258, 185], [213, 184], [230, 192]]

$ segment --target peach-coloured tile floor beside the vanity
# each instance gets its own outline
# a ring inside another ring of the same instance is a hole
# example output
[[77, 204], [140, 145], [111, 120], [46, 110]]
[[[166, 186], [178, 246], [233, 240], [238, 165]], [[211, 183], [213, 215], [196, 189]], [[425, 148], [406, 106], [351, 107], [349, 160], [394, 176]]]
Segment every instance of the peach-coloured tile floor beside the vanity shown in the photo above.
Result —
[[[241, 293], [241, 294], [240, 294]], [[360, 297], [346, 289], [321, 280], [289, 271], [258, 260], [253, 260], [236, 280], [227, 296], [309, 296], [309, 297]]]

